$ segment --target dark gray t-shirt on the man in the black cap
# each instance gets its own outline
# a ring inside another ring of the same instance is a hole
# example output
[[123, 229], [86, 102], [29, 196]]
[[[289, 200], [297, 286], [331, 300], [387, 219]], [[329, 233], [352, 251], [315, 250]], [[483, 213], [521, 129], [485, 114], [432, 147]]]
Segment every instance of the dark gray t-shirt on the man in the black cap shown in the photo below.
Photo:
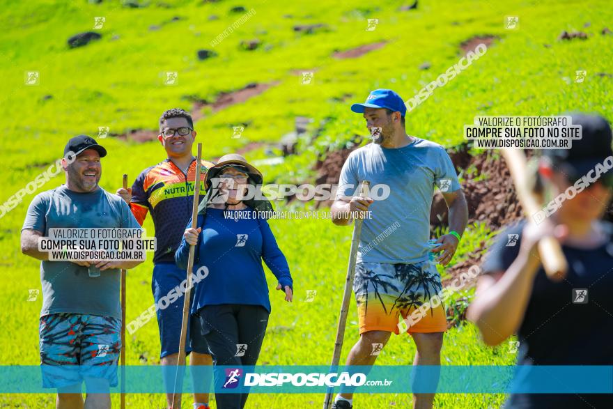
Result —
[[[121, 197], [102, 188], [92, 193], [77, 193], [61, 185], [36, 195], [23, 229], [49, 236], [49, 229], [76, 227], [140, 228]], [[120, 279], [118, 269], [104, 270], [100, 277], [89, 277], [86, 267], [70, 261], [41, 261], [40, 316], [65, 312], [121, 319]]]

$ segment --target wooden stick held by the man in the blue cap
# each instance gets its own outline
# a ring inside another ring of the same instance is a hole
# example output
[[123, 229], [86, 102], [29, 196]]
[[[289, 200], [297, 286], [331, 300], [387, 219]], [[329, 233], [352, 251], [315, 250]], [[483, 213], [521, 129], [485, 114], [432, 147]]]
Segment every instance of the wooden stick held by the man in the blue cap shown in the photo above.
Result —
[[[369, 185], [370, 182], [368, 182], [368, 180], [364, 180], [362, 182], [362, 187], [359, 192], [360, 197], [368, 197]], [[362, 234], [362, 222], [364, 222], [363, 219], [355, 219], [353, 224], [353, 236], [351, 238], [351, 249], [349, 251], [349, 265], [347, 267], [347, 277], [345, 279], [345, 289], [343, 291], [341, 314], [339, 314], [339, 324], [336, 326], [336, 341], [334, 341], [334, 353], [332, 354], [332, 363], [330, 364], [331, 371], [334, 369], [334, 366], [339, 365], [339, 361], [341, 360], [343, 340], [345, 339], [345, 326], [347, 324], [347, 314], [349, 313], [349, 301], [351, 298], [351, 291], [353, 290], [353, 278], [355, 277], [357, 248], [359, 245], [359, 236]], [[323, 409], [329, 409], [330, 405], [332, 404], [332, 394], [334, 394], [333, 387], [329, 388], [326, 392]]]

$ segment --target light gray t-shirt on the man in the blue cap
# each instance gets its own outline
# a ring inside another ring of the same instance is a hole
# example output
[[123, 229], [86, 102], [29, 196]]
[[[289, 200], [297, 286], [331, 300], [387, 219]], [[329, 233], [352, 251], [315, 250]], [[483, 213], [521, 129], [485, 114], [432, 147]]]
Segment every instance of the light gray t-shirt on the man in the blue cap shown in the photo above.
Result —
[[357, 262], [417, 263], [428, 258], [430, 206], [437, 185], [444, 192], [460, 189], [451, 158], [439, 144], [415, 138], [402, 148], [368, 144], [353, 151], [341, 170], [336, 199], [359, 196], [362, 180], [371, 183], [371, 197], [382, 194], [375, 185], [389, 186], [385, 200], [368, 208], [359, 241]]

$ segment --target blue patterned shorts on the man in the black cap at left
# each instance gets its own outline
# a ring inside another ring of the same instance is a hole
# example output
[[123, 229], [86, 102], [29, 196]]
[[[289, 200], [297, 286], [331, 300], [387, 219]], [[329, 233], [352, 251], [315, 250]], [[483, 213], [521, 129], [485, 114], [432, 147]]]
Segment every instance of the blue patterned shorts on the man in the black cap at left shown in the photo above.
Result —
[[88, 314], [49, 314], [40, 317], [38, 332], [42, 387], [62, 389], [79, 385], [80, 390], [84, 380], [88, 384], [102, 380], [103, 388], [117, 385], [120, 319]]

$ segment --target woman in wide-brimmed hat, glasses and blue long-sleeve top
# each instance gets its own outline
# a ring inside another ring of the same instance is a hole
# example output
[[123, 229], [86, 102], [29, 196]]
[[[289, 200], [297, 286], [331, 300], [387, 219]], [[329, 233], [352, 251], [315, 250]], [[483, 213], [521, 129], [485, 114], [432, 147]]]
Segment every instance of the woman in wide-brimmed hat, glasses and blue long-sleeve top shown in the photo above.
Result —
[[261, 195], [245, 195], [262, 182], [262, 173], [245, 157], [219, 158], [206, 174], [198, 228], [192, 229], [190, 220], [175, 254], [177, 265], [186, 268], [189, 245], [196, 245], [194, 272], [205, 275], [195, 286], [190, 331], [192, 346], [208, 343], [215, 390], [237, 392], [215, 394], [219, 409], [240, 409], [247, 401], [249, 389], [239, 385], [240, 373], [218, 366], [253, 366], [258, 360], [270, 314], [262, 260], [277, 277], [285, 300], [293, 296], [288, 263], [261, 213], [272, 212], [272, 205]]

